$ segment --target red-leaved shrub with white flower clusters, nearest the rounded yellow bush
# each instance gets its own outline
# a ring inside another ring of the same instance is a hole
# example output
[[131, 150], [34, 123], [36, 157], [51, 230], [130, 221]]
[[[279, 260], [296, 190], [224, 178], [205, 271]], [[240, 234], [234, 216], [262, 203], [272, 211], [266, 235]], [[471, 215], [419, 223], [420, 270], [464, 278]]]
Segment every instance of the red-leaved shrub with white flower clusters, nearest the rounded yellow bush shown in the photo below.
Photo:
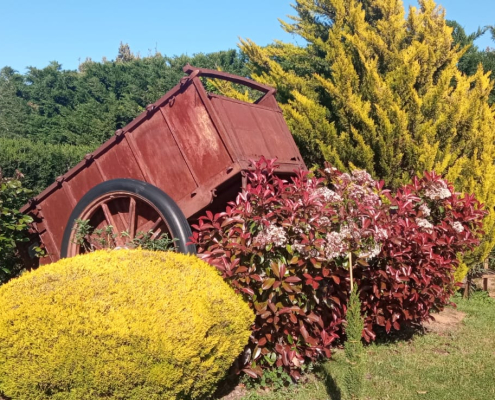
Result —
[[284, 367], [297, 379], [305, 360], [330, 356], [345, 313], [347, 254], [376, 254], [385, 231], [374, 223], [382, 204], [368, 174], [345, 175], [332, 190], [326, 178], [299, 171], [289, 183], [274, 168], [257, 163], [235, 203], [193, 225], [193, 242], [256, 312], [243, 370], [255, 377]]

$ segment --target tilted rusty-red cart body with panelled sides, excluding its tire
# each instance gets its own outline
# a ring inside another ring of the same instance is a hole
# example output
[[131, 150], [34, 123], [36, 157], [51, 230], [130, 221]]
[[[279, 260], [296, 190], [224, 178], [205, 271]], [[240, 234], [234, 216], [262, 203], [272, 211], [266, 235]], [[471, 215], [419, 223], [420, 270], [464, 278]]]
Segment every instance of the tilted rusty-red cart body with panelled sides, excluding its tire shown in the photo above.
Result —
[[[72, 210], [101, 182], [117, 178], [148, 182], [167, 193], [186, 218], [194, 220], [205, 208], [221, 209], [233, 200], [251, 160], [276, 157], [282, 174], [304, 168], [274, 88], [189, 65], [184, 72], [189, 76], [21, 209], [33, 216], [33, 237], [38, 235], [46, 248], [41, 263], [59, 259]], [[200, 77], [228, 80], [264, 95], [255, 103], [246, 103], [208, 94]], [[135, 203], [129, 199], [121, 203], [98, 206], [99, 226], [111, 219], [116, 229], [123, 228], [126, 219], [137, 215]], [[115, 214], [112, 207], [122, 210]], [[151, 214], [141, 216], [149, 220], [140, 221], [140, 227], [156, 222]], [[135, 233], [137, 227], [130, 229]]]

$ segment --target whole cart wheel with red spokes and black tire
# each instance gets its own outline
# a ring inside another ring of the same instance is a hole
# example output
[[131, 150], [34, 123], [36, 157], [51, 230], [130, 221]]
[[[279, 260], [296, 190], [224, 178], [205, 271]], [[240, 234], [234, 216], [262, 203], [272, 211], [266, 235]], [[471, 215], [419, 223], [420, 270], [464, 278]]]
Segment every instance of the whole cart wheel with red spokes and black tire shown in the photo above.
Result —
[[[75, 243], [76, 220], [91, 227], [84, 246]], [[163, 191], [134, 179], [114, 179], [91, 189], [76, 205], [62, 240], [61, 257], [73, 257], [89, 248], [125, 247], [144, 235], [151, 240], [167, 234], [182, 253], [195, 253], [187, 245], [191, 228], [177, 204]], [[103, 242], [103, 243], [102, 243]]]

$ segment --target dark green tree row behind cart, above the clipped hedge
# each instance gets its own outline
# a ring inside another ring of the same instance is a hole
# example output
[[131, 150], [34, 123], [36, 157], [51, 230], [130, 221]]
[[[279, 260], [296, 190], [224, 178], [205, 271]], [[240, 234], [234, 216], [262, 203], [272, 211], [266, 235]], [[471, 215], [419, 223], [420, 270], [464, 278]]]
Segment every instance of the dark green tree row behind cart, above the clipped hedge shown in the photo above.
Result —
[[123, 55], [123, 48], [116, 61], [87, 60], [79, 71], [63, 70], [56, 62], [43, 69], [30, 67], [25, 74], [3, 68], [0, 135], [96, 146], [175, 86], [187, 63], [245, 74], [235, 50], [139, 58]]

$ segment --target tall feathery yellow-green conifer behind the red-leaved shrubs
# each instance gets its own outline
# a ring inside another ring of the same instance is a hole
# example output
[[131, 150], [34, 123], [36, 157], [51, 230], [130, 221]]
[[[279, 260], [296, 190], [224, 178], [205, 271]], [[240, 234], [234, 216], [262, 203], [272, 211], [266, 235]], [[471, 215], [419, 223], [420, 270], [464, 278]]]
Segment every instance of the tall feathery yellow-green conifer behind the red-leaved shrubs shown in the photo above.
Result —
[[458, 70], [466, 49], [454, 46], [444, 10], [418, 3], [406, 17], [401, 0], [298, 0], [281, 22], [305, 46], [240, 47], [252, 77], [278, 89], [310, 165], [364, 168], [391, 188], [435, 170], [475, 193], [490, 214], [472, 263], [495, 244], [493, 83], [481, 67]]

